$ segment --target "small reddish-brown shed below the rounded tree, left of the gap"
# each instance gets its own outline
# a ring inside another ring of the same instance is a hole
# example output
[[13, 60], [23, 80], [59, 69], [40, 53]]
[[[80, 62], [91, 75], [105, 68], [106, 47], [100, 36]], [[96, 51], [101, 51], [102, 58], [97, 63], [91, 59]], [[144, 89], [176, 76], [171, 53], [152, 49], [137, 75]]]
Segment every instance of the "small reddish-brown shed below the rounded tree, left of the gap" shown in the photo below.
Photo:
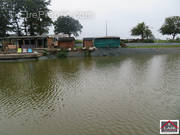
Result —
[[74, 37], [61, 37], [58, 38], [58, 48], [68, 49], [74, 48], [75, 46], [75, 38]]

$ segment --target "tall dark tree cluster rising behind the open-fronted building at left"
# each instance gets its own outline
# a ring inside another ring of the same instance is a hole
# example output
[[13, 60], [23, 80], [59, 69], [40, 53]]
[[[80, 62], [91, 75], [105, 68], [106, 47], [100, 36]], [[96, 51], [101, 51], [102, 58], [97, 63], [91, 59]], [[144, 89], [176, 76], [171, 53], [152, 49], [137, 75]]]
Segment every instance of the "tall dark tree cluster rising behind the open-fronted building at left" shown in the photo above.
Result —
[[[53, 23], [48, 16], [50, 0], [0, 0], [0, 33], [22, 35], [48, 33]], [[1, 28], [2, 27], [2, 28]]]

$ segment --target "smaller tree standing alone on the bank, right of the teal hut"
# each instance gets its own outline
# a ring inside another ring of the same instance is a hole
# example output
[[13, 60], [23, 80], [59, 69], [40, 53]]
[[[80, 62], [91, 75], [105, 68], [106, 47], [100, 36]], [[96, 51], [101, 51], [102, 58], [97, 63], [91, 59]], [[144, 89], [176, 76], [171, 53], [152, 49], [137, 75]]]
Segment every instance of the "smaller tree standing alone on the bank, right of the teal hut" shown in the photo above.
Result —
[[141, 39], [144, 40], [152, 38], [153, 34], [152, 31], [149, 29], [148, 26], [146, 26], [146, 24], [144, 22], [139, 23], [136, 27], [134, 27], [131, 30], [131, 35], [132, 36], [141, 36]]

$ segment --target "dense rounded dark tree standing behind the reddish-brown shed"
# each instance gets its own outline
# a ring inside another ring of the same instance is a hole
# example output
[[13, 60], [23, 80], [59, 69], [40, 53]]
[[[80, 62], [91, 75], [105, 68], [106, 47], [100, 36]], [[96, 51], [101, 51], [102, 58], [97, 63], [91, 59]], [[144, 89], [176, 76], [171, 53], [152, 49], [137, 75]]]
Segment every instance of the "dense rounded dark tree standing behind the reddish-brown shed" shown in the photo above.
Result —
[[79, 36], [79, 32], [81, 32], [83, 26], [80, 22], [70, 16], [60, 16], [54, 23], [55, 33], [63, 33], [68, 34], [69, 37], [71, 35]]

